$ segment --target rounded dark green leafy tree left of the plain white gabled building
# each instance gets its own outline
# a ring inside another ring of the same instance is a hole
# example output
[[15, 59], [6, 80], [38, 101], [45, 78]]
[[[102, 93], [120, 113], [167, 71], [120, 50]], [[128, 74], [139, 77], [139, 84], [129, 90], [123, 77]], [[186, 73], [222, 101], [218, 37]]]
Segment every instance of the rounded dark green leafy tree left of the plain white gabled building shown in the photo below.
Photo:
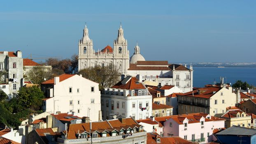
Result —
[[32, 110], [39, 110], [42, 106], [44, 93], [37, 86], [22, 87], [17, 95], [19, 105]]

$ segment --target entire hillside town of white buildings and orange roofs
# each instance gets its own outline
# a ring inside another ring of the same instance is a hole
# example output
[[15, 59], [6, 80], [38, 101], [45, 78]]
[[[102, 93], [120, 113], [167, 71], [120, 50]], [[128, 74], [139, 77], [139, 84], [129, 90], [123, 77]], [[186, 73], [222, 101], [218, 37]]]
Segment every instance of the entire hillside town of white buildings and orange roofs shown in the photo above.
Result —
[[19, 50], [0, 51], [0, 108], [12, 111], [2, 112], [0, 144], [256, 142], [254, 88], [224, 83], [221, 75], [216, 84], [194, 87], [193, 65], [145, 60], [138, 43], [130, 55], [121, 24], [113, 46], [101, 50], [86, 25], [81, 35], [70, 72]]

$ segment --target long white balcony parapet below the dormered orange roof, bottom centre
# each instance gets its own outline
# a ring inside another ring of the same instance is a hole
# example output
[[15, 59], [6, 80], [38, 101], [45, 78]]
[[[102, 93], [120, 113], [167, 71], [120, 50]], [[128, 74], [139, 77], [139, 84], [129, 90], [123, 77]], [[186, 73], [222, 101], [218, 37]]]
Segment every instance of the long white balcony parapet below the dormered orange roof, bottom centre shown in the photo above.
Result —
[[[136, 132], [133, 133], [131, 136], [126, 137], [126, 139], [134, 139], [136, 137], [145, 137], [147, 136], [147, 132]], [[123, 141], [123, 136], [118, 135], [118, 136], [111, 136], [111, 137], [95, 137], [95, 138], [84, 138], [84, 139], [62, 139], [58, 138], [58, 143], [61, 144], [91, 144], [91, 142], [95, 143], [103, 143], [103, 142], [112, 142], [112, 141]]]

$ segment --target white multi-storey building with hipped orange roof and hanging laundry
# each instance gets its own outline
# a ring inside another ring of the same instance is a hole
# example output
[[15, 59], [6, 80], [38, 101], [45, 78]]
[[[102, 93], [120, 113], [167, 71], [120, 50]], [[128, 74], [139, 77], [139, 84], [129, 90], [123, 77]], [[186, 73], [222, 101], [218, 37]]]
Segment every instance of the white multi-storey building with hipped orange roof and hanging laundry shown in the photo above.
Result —
[[102, 119], [114, 115], [132, 116], [134, 119], [149, 118], [152, 113], [152, 95], [136, 77], [127, 76], [112, 88], [105, 88], [101, 95]]

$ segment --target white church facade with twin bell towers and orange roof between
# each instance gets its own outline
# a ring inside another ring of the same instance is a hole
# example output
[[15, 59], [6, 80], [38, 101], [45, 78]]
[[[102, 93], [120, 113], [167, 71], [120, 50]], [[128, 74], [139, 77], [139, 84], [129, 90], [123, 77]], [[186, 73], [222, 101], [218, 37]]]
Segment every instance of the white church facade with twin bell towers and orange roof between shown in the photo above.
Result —
[[122, 74], [127, 74], [129, 67], [129, 51], [127, 40], [123, 37], [123, 28], [120, 25], [117, 38], [114, 40], [114, 49], [106, 46], [101, 51], [93, 49], [93, 40], [89, 38], [88, 28], [85, 26], [84, 35], [78, 44], [78, 70], [96, 65], [116, 65]]

